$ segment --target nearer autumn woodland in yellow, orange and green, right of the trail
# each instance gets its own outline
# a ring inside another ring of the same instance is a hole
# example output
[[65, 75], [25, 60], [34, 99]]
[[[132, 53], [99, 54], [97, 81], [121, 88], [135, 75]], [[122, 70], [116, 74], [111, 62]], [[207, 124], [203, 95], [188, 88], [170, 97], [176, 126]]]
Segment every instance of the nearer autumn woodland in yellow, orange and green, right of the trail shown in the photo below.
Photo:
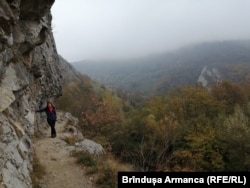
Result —
[[250, 170], [249, 82], [183, 86], [135, 103], [79, 75], [63, 93], [57, 107], [136, 171]]

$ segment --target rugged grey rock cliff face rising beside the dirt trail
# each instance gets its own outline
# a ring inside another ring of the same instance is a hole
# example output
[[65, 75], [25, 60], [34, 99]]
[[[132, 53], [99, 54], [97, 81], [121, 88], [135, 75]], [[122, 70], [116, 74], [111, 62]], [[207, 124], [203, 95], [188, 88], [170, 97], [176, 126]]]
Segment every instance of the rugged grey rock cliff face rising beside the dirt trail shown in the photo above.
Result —
[[61, 95], [54, 0], [0, 0], [0, 187], [32, 187], [34, 110]]

